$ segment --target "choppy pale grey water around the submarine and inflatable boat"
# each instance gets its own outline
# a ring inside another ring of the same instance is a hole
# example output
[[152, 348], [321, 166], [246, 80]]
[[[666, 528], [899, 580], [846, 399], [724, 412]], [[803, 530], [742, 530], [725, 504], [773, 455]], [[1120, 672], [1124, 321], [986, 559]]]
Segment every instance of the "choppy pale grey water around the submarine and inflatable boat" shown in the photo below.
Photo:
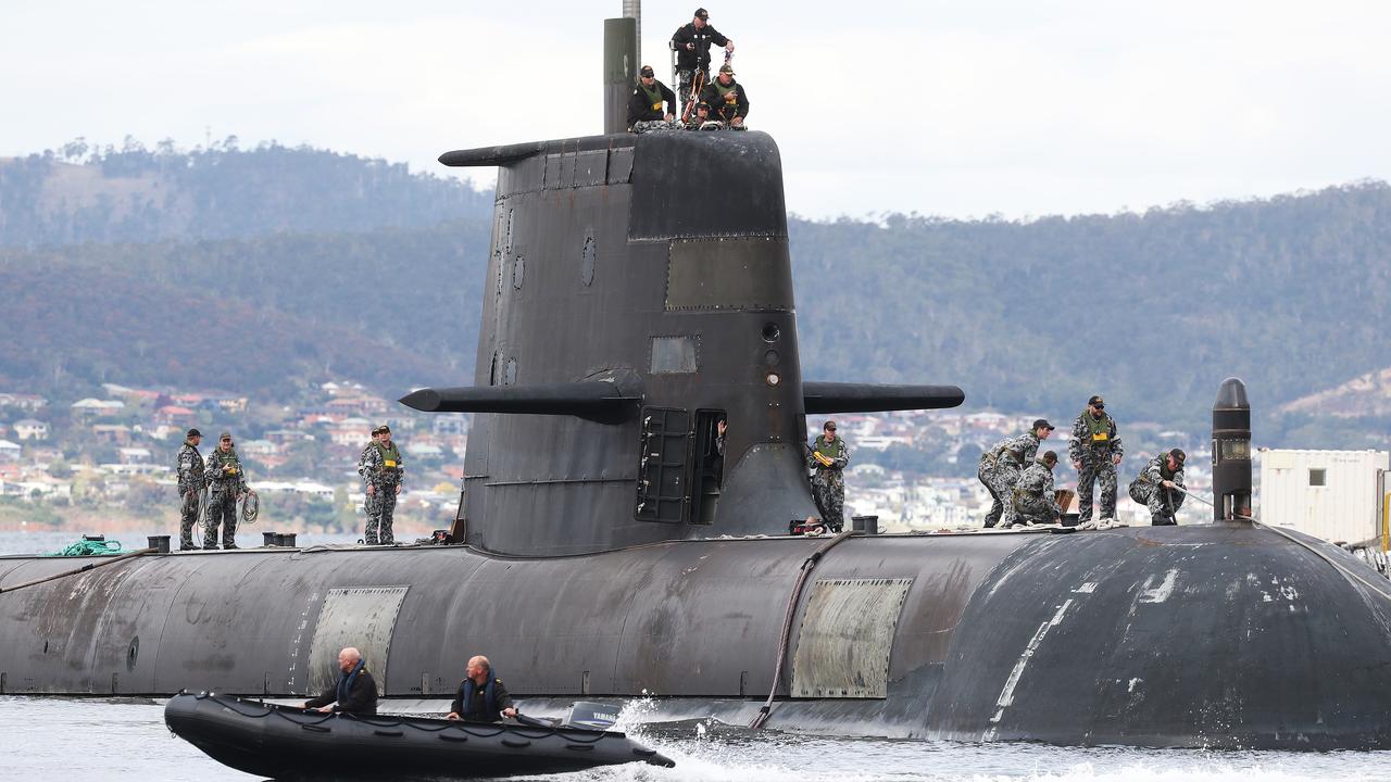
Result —
[[[0, 554], [56, 551], [70, 533], [0, 533]], [[145, 536], [122, 536], [127, 548]], [[300, 536], [345, 543], [349, 536]], [[1278, 753], [1047, 747], [832, 739], [753, 733], [719, 725], [643, 725], [641, 710], [619, 726], [676, 761], [531, 779], [554, 782], [1381, 782], [1391, 751]], [[1066, 715], [1060, 715], [1060, 719]], [[248, 781], [164, 728], [164, 703], [146, 699], [0, 696], [0, 779]]]

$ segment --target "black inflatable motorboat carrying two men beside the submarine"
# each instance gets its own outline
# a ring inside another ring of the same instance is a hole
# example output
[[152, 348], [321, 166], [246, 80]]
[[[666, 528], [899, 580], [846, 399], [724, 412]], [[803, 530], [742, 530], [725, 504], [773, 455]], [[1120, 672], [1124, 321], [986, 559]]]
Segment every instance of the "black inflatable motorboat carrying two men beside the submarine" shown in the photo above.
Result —
[[277, 779], [476, 779], [669, 758], [613, 731], [416, 717], [353, 717], [181, 693], [164, 707], [181, 739], [238, 771]]

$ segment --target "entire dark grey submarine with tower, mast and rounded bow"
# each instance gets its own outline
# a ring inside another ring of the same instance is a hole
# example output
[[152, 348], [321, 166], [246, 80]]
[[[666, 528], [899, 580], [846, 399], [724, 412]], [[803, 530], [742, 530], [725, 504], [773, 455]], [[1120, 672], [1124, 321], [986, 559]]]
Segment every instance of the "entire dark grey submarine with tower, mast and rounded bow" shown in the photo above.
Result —
[[452, 697], [487, 654], [529, 710], [1391, 749], [1391, 584], [1251, 519], [1239, 380], [1212, 523], [786, 534], [815, 513], [808, 415], [964, 394], [801, 377], [778, 145], [623, 132], [636, 28], [605, 21], [606, 132], [441, 156], [498, 170], [473, 384], [402, 399], [474, 413], [456, 543], [3, 557], [0, 692], [289, 699], [356, 646], [399, 703]]

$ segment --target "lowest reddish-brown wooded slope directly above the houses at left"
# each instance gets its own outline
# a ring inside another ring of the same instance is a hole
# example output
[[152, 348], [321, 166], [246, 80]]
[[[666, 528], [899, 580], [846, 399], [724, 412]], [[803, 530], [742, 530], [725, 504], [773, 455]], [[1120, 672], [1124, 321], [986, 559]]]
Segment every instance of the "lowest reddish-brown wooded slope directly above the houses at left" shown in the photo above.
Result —
[[298, 377], [360, 377], [409, 390], [437, 372], [370, 331], [153, 282], [138, 274], [0, 263], [0, 388], [72, 398], [102, 383], [278, 398]]

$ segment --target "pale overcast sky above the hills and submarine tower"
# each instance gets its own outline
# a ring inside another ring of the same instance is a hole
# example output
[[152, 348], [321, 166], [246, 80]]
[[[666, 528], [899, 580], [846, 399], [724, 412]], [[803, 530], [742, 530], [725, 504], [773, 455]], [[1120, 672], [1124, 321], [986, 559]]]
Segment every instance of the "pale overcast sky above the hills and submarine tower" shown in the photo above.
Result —
[[[1391, 3], [707, 7], [807, 217], [1109, 213], [1391, 178]], [[451, 175], [448, 149], [598, 132], [602, 18], [620, 8], [11, 1], [0, 156], [235, 134]], [[694, 8], [643, 3], [664, 81]]]

